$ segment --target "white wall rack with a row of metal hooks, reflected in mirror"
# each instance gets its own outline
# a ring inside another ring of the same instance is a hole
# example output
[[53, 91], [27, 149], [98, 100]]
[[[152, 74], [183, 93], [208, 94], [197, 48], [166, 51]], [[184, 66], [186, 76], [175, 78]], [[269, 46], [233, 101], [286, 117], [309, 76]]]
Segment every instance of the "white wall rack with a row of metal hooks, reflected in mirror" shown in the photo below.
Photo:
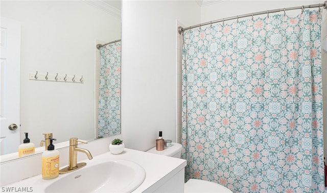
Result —
[[84, 83], [83, 76], [77, 76], [77, 75], [58, 75], [56, 74], [49, 74], [49, 72], [46, 73], [36, 73], [29, 74], [29, 80], [41, 80], [41, 81], [54, 81], [54, 82], [72, 82], [72, 83]]

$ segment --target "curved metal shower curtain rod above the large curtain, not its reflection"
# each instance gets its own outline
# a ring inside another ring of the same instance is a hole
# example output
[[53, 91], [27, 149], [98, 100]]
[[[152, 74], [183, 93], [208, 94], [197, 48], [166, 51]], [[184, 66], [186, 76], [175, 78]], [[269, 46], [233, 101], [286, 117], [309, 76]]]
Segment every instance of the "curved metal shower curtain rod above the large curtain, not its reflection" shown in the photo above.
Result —
[[276, 13], [276, 12], [281, 12], [281, 11], [289, 11], [289, 10], [295, 10], [295, 9], [302, 9], [302, 11], [306, 8], [316, 8], [316, 7], [324, 7], [324, 9], [327, 9], [327, 1], [324, 1], [323, 4], [314, 4], [314, 5], [308, 5], [308, 6], [299, 6], [299, 7], [290, 7], [290, 8], [284, 8], [284, 9], [272, 9], [272, 10], [267, 10], [267, 11], [261, 11], [261, 12], [255, 12], [255, 13], [249, 13], [249, 14], [244, 14], [244, 15], [238, 15], [238, 16], [233, 16], [233, 17], [227, 17], [227, 18], [223, 18], [223, 19], [218, 19], [218, 20], [214, 20], [214, 21], [209, 21], [209, 22], [205, 22], [205, 23], [200, 23], [198, 25], [195, 26], [190, 26], [188, 28], [182, 28], [182, 27], [178, 27], [178, 33], [181, 34], [183, 33], [185, 30], [191, 30], [193, 28], [197, 28], [201, 26], [205, 26], [205, 25], [212, 25], [213, 23], [217, 23], [217, 22], [221, 22], [221, 21], [227, 21], [227, 20], [231, 20], [231, 19], [239, 19], [242, 17], [249, 17], [249, 16], [254, 16], [254, 15], [262, 15], [262, 14], [268, 14], [269, 13]]

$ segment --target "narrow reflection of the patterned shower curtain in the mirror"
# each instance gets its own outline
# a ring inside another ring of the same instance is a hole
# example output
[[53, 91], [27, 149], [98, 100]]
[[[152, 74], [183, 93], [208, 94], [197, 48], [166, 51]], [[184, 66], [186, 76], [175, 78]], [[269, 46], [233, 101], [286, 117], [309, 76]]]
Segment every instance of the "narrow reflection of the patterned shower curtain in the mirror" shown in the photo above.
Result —
[[98, 135], [121, 133], [121, 42], [100, 48]]

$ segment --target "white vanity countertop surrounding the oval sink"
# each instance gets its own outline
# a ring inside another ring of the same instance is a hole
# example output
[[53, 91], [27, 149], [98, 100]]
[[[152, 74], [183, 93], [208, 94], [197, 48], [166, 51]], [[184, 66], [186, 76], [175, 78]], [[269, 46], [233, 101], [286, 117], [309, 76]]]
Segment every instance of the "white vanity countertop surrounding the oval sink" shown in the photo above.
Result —
[[[146, 171], [146, 177], [143, 183], [133, 192], [144, 192], [149, 188], [155, 189], [156, 187], [160, 187], [179, 171], [184, 170], [183, 168], [186, 166], [186, 160], [184, 159], [156, 155], [127, 148], [124, 149], [123, 153], [118, 155], [113, 155], [108, 151], [98, 156], [94, 156], [93, 159], [125, 159], [141, 165]], [[88, 163], [91, 161], [92, 160], [82, 160], [78, 162]], [[61, 165], [60, 168], [64, 168], [65, 166], [67, 165]], [[87, 167], [87, 165], [85, 167]], [[64, 175], [65, 174], [59, 175], [59, 177], [55, 179], [59, 179]], [[34, 191], [37, 191], [37, 182], [39, 183], [41, 178], [41, 175], [37, 175], [19, 182], [8, 184], [6, 187], [32, 187]], [[52, 180], [46, 180], [45, 183], [51, 184]]]

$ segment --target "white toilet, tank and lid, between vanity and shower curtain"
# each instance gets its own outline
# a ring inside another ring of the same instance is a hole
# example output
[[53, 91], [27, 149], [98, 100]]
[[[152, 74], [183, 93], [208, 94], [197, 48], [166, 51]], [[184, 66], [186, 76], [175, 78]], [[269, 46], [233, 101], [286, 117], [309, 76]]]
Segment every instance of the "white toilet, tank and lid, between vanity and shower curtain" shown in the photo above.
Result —
[[[165, 147], [165, 150], [157, 151], [156, 148], [152, 148], [147, 152], [181, 158], [182, 145], [172, 142], [171, 147]], [[184, 192], [219, 192], [219, 193], [232, 193], [228, 188], [220, 184], [209, 182], [205, 180], [190, 179], [184, 184]]]

